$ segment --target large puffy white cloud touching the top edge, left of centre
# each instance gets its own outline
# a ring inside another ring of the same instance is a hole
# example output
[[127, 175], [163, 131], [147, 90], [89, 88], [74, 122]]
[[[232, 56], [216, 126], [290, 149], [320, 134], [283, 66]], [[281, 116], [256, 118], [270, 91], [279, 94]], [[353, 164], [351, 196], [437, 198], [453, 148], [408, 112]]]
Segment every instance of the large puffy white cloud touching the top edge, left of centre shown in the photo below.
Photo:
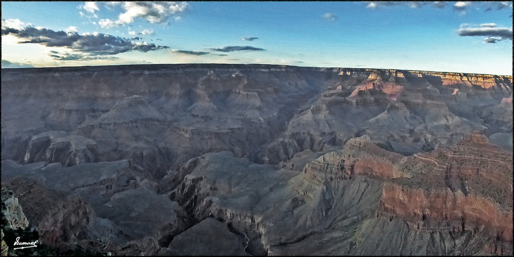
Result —
[[118, 20], [102, 19], [98, 24], [102, 28], [112, 28], [120, 25], [131, 24], [134, 19], [144, 19], [150, 23], [166, 23], [172, 16], [179, 17], [179, 14], [186, 11], [188, 4], [185, 2], [123, 2], [121, 4], [125, 11], [120, 13]]

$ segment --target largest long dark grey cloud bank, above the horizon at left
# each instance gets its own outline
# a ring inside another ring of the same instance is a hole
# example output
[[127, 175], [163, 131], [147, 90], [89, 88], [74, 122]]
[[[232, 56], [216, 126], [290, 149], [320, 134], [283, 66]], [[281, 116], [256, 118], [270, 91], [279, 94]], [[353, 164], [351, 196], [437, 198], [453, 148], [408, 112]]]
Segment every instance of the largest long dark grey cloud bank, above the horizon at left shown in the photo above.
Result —
[[2, 35], [12, 34], [19, 38], [21, 44], [40, 44], [48, 47], [65, 47], [75, 52], [87, 53], [89, 56], [118, 54], [128, 51], [148, 52], [167, 49], [145, 42], [133, 42], [131, 39], [103, 33], [84, 33], [54, 31], [46, 28], [27, 26], [23, 29], [13, 29], [2, 26]]

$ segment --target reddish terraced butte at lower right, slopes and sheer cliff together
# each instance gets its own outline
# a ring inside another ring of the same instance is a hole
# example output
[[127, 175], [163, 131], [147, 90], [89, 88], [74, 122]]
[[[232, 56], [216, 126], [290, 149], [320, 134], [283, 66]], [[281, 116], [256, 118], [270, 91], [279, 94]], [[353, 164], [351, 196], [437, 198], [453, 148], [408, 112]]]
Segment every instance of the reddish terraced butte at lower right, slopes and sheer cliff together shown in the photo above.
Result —
[[379, 215], [399, 216], [418, 228], [485, 228], [495, 240], [512, 242], [511, 153], [475, 131], [458, 145], [416, 154], [404, 163], [417, 164], [418, 174], [384, 185]]

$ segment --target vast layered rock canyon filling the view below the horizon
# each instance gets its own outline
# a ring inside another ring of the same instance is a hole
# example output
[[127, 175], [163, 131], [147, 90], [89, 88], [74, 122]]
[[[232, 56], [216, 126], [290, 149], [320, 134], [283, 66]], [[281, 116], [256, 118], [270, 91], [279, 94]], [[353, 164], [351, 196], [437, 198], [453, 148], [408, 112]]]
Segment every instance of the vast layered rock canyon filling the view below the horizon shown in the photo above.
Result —
[[1, 171], [8, 226], [63, 249], [512, 255], [512, 77], [2, 69]]

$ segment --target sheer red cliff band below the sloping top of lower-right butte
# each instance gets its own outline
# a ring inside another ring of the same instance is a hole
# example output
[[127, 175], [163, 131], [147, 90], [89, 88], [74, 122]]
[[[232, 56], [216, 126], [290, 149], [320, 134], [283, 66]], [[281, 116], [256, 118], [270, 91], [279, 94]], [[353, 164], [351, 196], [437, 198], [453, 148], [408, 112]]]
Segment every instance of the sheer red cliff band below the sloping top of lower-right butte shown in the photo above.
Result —
[[413, 189], [386, 183], [381, 210], [417, 221], [448, 221], [453, 230], [478, 231], [485, 226], [497, 240], [512, 242], [512, 210], [502, 211], [488, 198], [461, 191]]

